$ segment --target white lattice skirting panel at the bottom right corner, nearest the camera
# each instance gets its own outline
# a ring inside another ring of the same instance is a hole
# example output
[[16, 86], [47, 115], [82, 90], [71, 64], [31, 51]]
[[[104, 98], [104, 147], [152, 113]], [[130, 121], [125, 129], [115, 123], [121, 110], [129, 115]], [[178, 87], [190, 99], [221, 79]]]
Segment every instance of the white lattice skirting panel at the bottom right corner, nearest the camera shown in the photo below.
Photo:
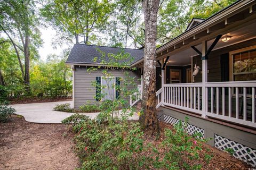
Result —
[[233, 155], [234, 157], [251, 164], [253, 167], [256, 167], [256, 149], [246, 147], [233, 140], [221, 137], [218, 134], [214, 134], [214, 146], [220, 150], [232, 148], [235, 151]]

